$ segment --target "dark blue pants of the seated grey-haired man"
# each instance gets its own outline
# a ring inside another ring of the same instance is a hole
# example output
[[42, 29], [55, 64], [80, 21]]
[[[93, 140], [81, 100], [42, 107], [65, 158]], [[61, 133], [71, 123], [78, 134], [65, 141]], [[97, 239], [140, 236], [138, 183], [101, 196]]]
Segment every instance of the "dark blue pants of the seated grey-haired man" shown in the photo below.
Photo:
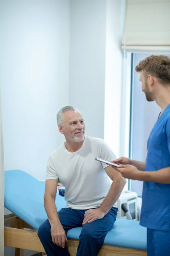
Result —
[[[58, 212], [58, 215], [66, 235], [68, 230], [71, 228], [82, 227], [82, 231], [79, 236], [77, 256], [97, 256], [100, 248], [102, 247], [105, 236], [113, 227], [118, 209], [116, 207], [112, 207], [104, 218], [91, 223], [86, 223], [82, 226], [86, 210], [62, 208]], [[51, 238], [51, 225], [48, 220], [40, 226], [38, 236], [47, 256], [70, 256], [67, 247], [62, 248], [53, 243]]]

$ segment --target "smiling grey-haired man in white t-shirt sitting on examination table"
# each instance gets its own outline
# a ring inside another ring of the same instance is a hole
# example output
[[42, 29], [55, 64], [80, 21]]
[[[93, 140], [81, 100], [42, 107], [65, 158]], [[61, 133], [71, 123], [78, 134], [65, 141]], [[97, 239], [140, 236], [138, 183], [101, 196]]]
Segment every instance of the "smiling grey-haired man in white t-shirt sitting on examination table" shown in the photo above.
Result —
[[[111, 166], [95, 160], [116, 157], [102, 139], [85, 136], [79, 111], [71, 106], [62, 108], [57, 124], [65, 143], [48, 159], [44, 195], [48, 219], [40, 226], [38, 236], [48, 256], [69, 256], [65, 247], [67, 232], [82, 227], [77, 256], [97, 256], [116, 220], [115, 203], [126, 181]], [[65, 186], [67, 204], [57, 213], [58, 179]]]

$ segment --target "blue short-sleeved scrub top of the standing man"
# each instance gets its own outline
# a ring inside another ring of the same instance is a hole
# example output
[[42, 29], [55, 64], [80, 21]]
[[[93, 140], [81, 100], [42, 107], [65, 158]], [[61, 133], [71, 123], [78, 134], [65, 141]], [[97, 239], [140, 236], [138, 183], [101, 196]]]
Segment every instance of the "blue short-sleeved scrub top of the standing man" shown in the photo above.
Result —
[[[170, 167], [170, 105], [155, 123], [147, 140], [146, 172]], [[140, 224], [167, 231], [170, 229], [170, 185], [144, 181]]]

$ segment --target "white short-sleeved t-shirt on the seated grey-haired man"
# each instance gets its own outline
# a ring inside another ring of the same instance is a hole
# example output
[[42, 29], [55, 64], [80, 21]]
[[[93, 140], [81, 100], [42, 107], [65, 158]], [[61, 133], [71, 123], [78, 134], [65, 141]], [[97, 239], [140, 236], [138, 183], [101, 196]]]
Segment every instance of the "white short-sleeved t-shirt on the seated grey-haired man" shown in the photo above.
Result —
[[111, 179], [104, 170], [108, 165], [96, 161], [96, 157], [116, 159], [104, 140], [88, 136], [76, 152], [69, 152], [62, 144], [51, 153], [46, 180], [59, 178], [65, 186], [66, 207], [98, 208], [108, 194]]

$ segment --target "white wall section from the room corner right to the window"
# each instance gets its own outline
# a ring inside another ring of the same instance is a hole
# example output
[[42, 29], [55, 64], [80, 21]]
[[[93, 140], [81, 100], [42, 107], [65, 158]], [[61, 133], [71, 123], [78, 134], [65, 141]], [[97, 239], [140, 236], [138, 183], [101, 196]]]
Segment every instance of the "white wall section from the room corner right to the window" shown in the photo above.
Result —
[[86, 134], [120, 153], [125, 0], [72, 0], [69, 104], [82, 111]]

